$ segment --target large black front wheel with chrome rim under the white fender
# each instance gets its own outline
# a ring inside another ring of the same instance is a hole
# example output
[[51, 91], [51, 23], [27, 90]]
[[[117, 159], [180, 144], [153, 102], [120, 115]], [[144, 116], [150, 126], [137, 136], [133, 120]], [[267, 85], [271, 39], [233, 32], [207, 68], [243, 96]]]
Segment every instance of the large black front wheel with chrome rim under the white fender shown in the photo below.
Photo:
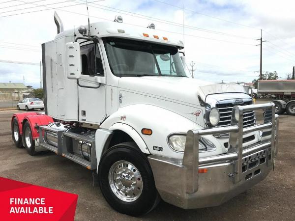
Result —
[[160, 201], [148, 158], [134, 142], [108, 149], [99, 164], [98, 175], [103, 196], [120, 213], [141, 216]]

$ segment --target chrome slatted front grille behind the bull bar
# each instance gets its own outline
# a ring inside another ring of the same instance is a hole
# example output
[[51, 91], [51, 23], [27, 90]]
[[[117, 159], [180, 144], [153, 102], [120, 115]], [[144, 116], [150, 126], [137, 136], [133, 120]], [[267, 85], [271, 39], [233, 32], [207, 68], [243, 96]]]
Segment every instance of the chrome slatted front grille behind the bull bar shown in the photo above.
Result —
[[[220, 121], [217, 126], [226, 127], [231, 126], [231, 119], [232, 119], [232, 111], [233, 107], [236, 105], [244, 106], [244, 105], [251, 105], [252, 101], [244, 101], [240, 104], [231, 103], [224, 103], [216, 104], [216, 108], [220, 112]], [[250, 127], [254, 126], [256, 122], [255, 112], [254, 111], [244, 111], [243, 112], [243, 127]]]

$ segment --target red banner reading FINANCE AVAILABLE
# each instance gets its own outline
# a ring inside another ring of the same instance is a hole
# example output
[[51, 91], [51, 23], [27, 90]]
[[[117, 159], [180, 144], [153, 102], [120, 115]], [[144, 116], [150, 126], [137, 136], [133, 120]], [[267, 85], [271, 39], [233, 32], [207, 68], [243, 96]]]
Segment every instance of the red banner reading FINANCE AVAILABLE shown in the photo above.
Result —
[[0, 177], [2, 221], [73, 221], [77, 194]]

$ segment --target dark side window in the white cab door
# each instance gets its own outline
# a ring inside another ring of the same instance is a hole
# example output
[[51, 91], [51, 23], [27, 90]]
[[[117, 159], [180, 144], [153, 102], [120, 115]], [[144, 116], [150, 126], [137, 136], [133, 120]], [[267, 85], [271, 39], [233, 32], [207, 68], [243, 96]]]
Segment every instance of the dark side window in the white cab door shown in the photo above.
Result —
[[82, 75], [104, 76], [101, 56], [97, 44], [81, 46], [81, 68]]

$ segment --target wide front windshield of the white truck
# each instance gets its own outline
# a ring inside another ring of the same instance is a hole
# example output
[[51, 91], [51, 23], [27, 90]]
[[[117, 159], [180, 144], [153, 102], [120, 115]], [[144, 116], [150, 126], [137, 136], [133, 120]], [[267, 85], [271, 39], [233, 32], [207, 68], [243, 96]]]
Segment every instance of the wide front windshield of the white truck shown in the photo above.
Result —
[[121, 38], [103, 38], [110, 68], [117, 77], [187, 77], [177, 47]]

